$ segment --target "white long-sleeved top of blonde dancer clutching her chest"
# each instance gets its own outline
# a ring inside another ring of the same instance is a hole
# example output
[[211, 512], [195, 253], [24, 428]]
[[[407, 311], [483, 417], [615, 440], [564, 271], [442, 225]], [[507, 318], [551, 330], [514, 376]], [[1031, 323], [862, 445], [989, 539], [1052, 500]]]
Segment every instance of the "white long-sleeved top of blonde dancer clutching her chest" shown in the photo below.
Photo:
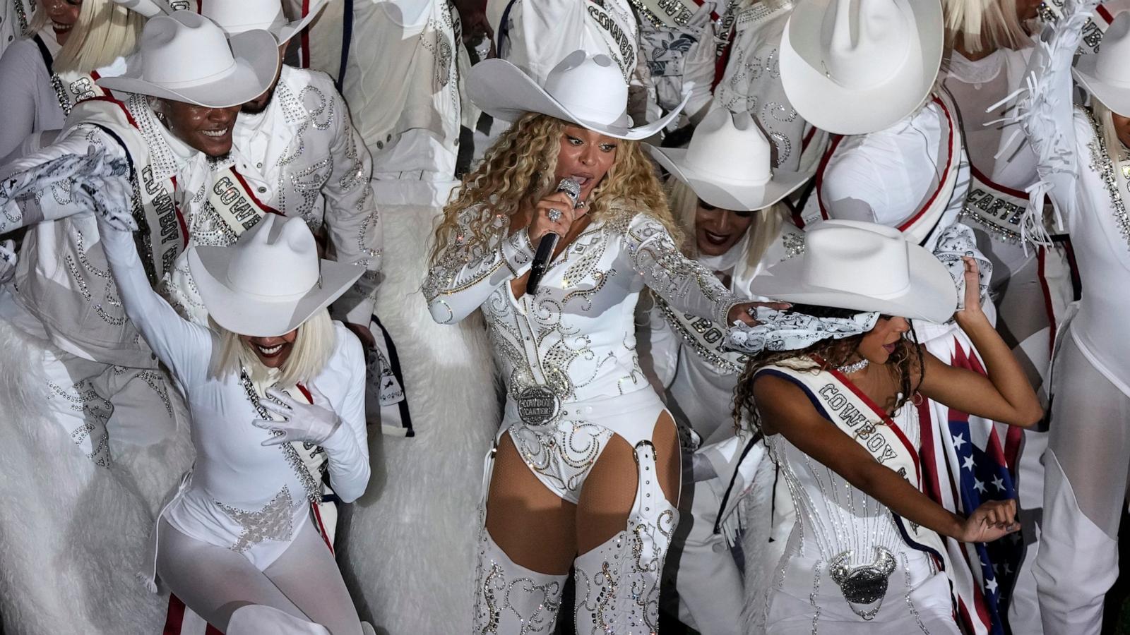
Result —
[[[191, 486], [171, 510], [177, 525], [190, 536], [232, 547], [246, 525], [241, 528], [228, 507], [304, 513], [307, 488], [299, 470], [305, 468], [288, 461], [285, 449], [262, 445], [271, 433], [252, 425], [262, 416], [247, 394], [250, 381], [242, 383], [234, 373], [217, 379], [210, 372], [219, 336], [183, 320], [153, 290], [130, 233], [107, 232], [102, 240], [127, 314], [188, 400], [197, 458]], [[341, 418], [323, 446], [333, 492], [349, 503], [365, 492], [370, 476], [365, 358], [360, 342], [345, 327], [334, 324], [333, 332], [333, 353], [311, 385], [325, 394]], [[289, 505], [271, 505], [284, 499]]]

